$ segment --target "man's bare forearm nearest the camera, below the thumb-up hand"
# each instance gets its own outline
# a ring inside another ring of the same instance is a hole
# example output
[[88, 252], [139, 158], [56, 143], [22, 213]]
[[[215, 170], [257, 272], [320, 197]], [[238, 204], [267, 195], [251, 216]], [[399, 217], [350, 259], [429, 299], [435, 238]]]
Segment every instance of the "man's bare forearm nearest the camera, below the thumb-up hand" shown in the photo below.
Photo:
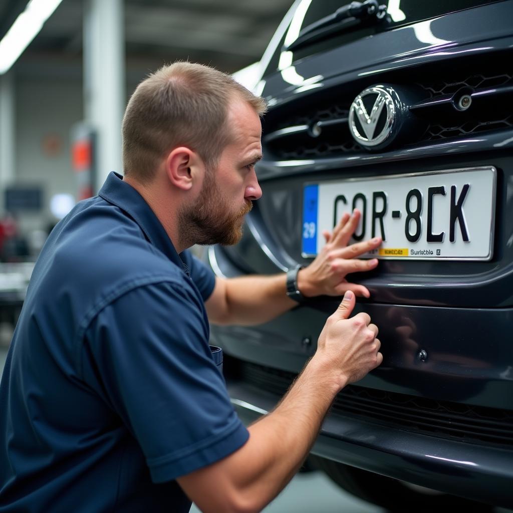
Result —
[[[209, 502], [203, 505], [196, 500], [203, 511], [260, 511], [279, 494], [307, 456], [328, 408], [344, 384], [336, 377], [326, 379], [327, 371], [329, 368], [314, 357], [277, 408], [249, 427], [248, 442], [216, 464], [215, 483], [207, 475], [202, 479], [202, 487], [225, 490], [222, 497], [215, 490], [211, 494], [204, 490]], [[202, 472], [208, 472], [208, 468], [199, 470], [195, 477], [201, 479]], [[185, 491], [188, 479], [179, 479]], [[213, 504], [213, 497], [222, 502]]]

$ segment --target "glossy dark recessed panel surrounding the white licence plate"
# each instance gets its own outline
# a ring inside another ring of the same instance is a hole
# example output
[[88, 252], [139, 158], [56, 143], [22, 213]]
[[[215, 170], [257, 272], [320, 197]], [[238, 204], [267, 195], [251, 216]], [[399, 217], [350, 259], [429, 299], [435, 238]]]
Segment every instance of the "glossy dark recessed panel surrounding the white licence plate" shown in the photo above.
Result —
[[[380, 261], [376, 272], [361, 280], [372, 293], [372, 301], [457, 307], [507, 307], [513, 305], [513, 165], [505, 151], [477, 153], [465, 160], [455, 155], [419, 162], [390, 163], [379, 168], [312, 172], [262, 181], [264, 194], [248, 219], [242, 243], [223, 251], [234, 262], [244, 262], [252, 272], [278, 272], [301, 257], [303, 184], [353, 176], [401, 174], [457, 167], [494, 165], [498, 170], [494, 255], [489, 262]], [[279, 223], [276, 220], [280, 220]], [[255, 245], [254, 233], [261, 243]], [[262, 250], [269, 248], [281, 267], [272, 264]], [[436, 279], [433, 277], [436, 276]], [[500, 283], [500, 286], [498, 286]]]

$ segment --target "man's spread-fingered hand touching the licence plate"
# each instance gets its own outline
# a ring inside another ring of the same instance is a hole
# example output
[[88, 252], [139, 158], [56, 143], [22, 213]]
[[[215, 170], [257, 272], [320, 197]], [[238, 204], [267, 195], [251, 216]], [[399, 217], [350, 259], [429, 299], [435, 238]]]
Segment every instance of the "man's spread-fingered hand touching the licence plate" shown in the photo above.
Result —
[[370, 296], [367, 287], [346, 280], [347, 274], [369, 271], [378, 265], [378, 259], [361, 260], [357, 257], [376, 249], [382, 242], [381, 237], [347, 245], [361, 215], [358, 209], [352, 215], [345, 213], [332, 233], [323, 231], [326, 245], [315, 260], [298, 273], [298, 288], [305, 297], [344, 295], [346, 290], [365, 298]]

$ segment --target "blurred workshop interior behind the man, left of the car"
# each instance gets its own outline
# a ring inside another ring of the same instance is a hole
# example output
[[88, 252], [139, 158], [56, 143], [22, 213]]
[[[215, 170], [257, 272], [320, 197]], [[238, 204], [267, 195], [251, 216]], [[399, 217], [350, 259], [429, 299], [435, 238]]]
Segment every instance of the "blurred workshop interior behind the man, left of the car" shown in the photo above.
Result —
[[137, 84], [189, 60], [241, 70], [253, 87], [291, 3], [0, 0], [0, 344], [48, 233], [123, 171], [121, 121]]

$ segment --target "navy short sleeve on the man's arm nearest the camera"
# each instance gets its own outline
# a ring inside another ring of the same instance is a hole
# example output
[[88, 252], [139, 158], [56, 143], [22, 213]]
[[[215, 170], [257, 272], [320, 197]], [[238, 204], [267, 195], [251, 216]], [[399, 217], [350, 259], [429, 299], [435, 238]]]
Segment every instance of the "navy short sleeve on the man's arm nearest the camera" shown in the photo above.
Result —
[[198, 301], [183, 284], [145, 285], [105, 307], [85, 335], [83, 378], [139, 442], [156, 483], [218, 461], [248, 439]]

